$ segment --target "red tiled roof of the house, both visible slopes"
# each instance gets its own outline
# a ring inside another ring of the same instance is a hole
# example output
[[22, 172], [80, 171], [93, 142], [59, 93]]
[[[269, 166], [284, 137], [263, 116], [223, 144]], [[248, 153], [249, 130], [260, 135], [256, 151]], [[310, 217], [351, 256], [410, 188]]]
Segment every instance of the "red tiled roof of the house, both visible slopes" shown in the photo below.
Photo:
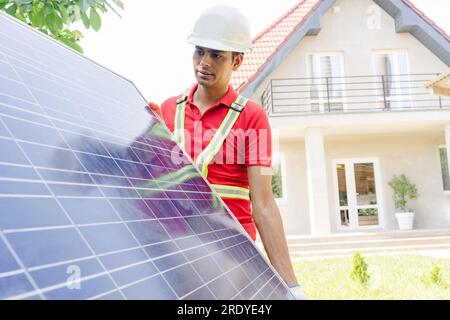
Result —
[[[297, 31], [306, 19], [314, 12], [322, 0], [302, 0], [275, 21], [266, 30], [253, 39], [253, 50], [245, 55], [242, 66], [233, 73], [231, 83], [237, 91], [242, 91], [264, 69], [272, 56]], [[403, 2], [412, 8], [420, 17], [450, 41], [450, 37], [430, 18], [412, 4], [410, 0]]]

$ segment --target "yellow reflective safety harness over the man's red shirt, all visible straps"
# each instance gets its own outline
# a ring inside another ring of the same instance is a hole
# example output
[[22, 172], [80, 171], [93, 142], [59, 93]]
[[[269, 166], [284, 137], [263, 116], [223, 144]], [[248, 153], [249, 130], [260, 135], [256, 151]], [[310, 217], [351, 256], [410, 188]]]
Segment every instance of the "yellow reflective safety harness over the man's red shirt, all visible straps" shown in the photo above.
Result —
[[[184, 136], [184, 119], [186, 114], [186, 104], [189, 91], [186, 91], [183, 96], [177, 100], [177, 107], [175, 112], [174, 123], [174, 138], [175, 141], [180, 144], [184, 149], [185, 136]], [[211, 142], [195, 159], [195, 165], [206, 179], [208, 177], [208, 166], [214, 160], [214, 157], [219, 153], [223, 146], [223, 142], [229, 135], [231, 129], [236, 123], [237, 119], [244, 110], [248, 99], [238, 96], [236, 101], [230, 106], [230, 109], [222, 121], [222, 124], [217, 129]], [[230, 185], [213, 184], [214, 190], [223, 198], [234, 198], [250, 200], [250, 190], [248, 188], [236, 187]]]

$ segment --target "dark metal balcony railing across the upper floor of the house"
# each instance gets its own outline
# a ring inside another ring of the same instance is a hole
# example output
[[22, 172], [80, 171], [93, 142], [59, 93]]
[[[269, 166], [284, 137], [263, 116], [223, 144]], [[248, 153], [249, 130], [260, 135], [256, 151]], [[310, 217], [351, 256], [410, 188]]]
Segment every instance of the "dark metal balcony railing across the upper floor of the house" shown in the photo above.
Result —
[[270, 80], [261, 99], [269, 115], [450, 110], [450, 98], [424, 85], [438, 74]]

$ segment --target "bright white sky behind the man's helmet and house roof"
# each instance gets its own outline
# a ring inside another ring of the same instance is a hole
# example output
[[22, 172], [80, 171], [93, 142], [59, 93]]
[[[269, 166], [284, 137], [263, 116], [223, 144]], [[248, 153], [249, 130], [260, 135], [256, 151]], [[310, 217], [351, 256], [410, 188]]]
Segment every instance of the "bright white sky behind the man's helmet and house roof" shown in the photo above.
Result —
[[[186, 43], [195, 19], [208, 6], [228, 4], [247, 16], [256, 36], [300, 0], [123, 0], [121, 18], [102, 16], [100, 31], [85, 30], [85, 55], [130, 79], [148, 101], [162, 103], [194, 81], [193, 47]], [[412, 0], [450, 34], [450, 0]]]

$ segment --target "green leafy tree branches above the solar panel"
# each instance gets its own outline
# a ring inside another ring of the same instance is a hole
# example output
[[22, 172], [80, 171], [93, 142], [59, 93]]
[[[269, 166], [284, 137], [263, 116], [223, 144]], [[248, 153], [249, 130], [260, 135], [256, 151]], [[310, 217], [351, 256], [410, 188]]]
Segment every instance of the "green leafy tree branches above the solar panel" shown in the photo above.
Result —
[[83, 34], [72, 30], [75, 22], [82, 21], [86, 29], [98, 31], [100, 13], [123, 10], [122, 0], [0, 0], [0, 10], [22, 20], [33, 28], [83, 52], [78, 41]]

